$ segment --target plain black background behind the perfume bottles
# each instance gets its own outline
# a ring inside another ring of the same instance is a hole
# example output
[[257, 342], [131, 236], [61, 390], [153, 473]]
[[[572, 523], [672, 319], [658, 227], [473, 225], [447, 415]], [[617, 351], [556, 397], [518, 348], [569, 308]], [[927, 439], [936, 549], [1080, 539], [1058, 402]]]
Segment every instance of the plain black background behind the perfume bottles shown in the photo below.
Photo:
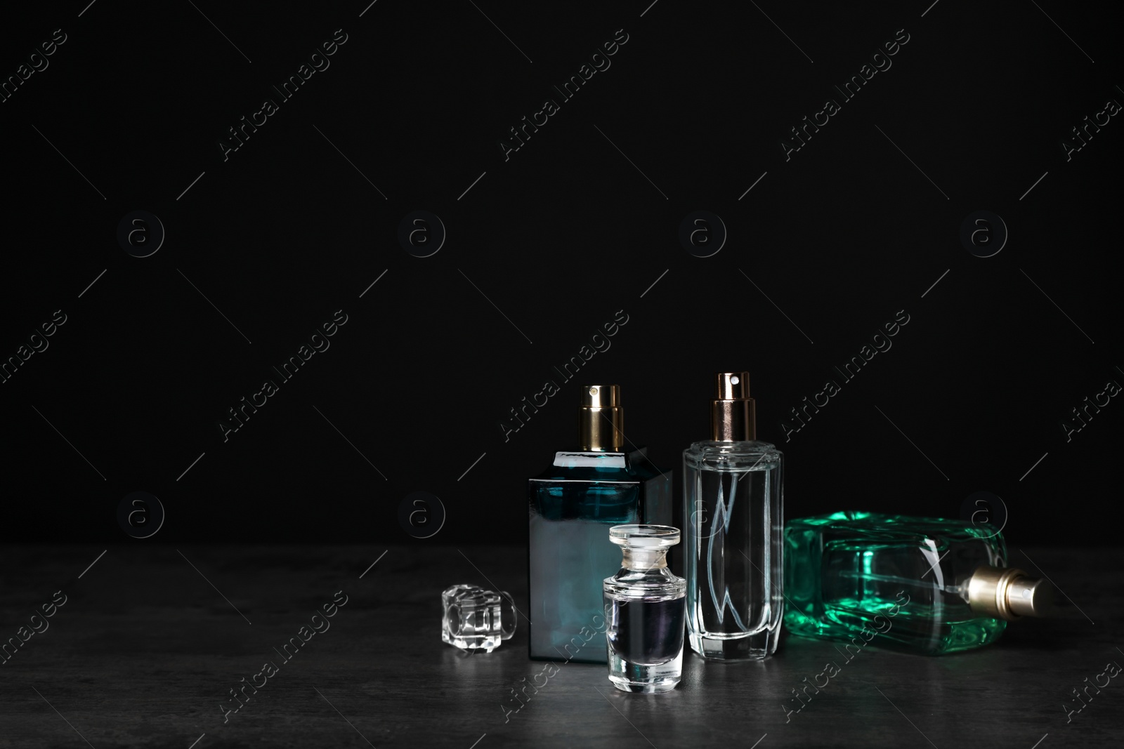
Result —
[[[713, 373], [742, 368], [788, 517], [961, 517], [988, 491], [1018, 544], [1115, 539], [1124, 407], [1071, 441], [1060, 426], [1124, 382], [1124, 125], [1069, 162], [1060, 145], [1124, 101], [1115, 9], [197, 4], [6, 12], [3, 76], [67, 37], [0, 104], [0, 356], [66, 314], [0, 385], [7, 540], [127, 540], [117, 505], [145, 491], [162, 541], [518, 544], [581, 382], [622, 385], [626, 435], [678, 492]], [[271, 84], [339, 28], [280, 102]], [[617, 29], [611, 66], [505, 161], [508, 128]], [[786, 162], [788, 129], [898, 29], [892, 66]], [[265, 98], [279, 111], [224, 162]], [[707, 258], [678, 239], [699, 209], [729, 235]], [[116, 238], [134, 210], [166, 229], [147, 258]], [[427, 258], [397, 240], [414, 210], [447, 229]], [[992, 257], [960, 241], [977, 210], [1009, 230]], [[330, 348], [224, 442], [227, 410], [341, 309]], [[609, 350], [552, 374], [618, 310]], [[786, 441], [789, 409], [899, 310], [892, 348]], [[549, 377], [561, 392], [505, 441]], [[417, 491], [447, 518], [415, 541], [398, 512]]]

